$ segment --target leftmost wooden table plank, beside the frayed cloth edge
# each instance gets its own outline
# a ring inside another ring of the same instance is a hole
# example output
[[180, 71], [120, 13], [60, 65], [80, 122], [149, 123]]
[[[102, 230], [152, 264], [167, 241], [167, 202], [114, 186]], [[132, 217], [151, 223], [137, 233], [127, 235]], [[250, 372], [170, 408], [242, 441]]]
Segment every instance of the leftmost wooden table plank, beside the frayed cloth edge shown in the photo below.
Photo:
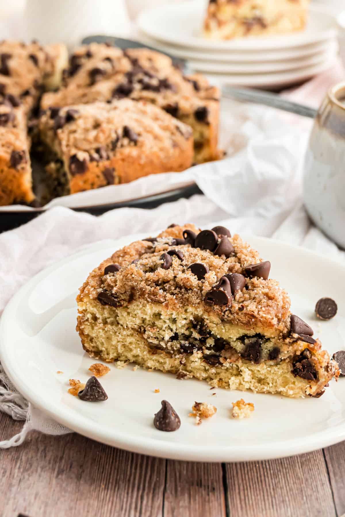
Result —
[[[0, 439], [22, 423], [0, 414]], [[166, 461], [99, 444], [75, 433], [29, 435], [0, 452], [2, 517], [162, 515]], [[4, 494], [5, 497], [4, 497]]]

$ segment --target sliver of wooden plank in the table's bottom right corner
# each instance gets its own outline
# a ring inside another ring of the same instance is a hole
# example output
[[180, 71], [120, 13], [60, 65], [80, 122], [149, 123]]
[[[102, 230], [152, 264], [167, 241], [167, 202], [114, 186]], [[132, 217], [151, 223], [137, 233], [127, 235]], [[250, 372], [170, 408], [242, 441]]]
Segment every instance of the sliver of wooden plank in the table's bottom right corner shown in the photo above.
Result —
[[345, 514], [345, 442], [324, 449], [338, 515]]

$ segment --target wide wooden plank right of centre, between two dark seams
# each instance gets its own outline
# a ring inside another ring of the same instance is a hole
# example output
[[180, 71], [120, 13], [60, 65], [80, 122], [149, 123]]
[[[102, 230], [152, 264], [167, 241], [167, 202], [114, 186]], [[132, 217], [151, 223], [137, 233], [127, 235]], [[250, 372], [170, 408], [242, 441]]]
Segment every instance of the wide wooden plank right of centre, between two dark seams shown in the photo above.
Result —
[[226, 465], [230, 516], [334, 517], [322, 450], [281, 460]]

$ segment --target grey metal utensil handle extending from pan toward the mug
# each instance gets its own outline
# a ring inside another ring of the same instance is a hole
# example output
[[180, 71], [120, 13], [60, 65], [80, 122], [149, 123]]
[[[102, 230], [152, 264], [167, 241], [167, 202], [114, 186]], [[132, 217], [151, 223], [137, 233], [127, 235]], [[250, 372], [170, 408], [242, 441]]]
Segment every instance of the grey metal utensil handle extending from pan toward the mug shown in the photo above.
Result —
[[318, 111], [297, 102], [291, 102], [282, 99], [278, 94], [263, 92], [263, 90], [256, 90], [251, 88], [233, 88], [232, 86], [222, 87], [223, 97], [231, 97], [232, 99], [243, 100], [247, 102], [256, 102], [257, 104], [264, 104], [271, 108], [278, 110], [289, 111], [296, 113], [303, 117], [315, 118]]

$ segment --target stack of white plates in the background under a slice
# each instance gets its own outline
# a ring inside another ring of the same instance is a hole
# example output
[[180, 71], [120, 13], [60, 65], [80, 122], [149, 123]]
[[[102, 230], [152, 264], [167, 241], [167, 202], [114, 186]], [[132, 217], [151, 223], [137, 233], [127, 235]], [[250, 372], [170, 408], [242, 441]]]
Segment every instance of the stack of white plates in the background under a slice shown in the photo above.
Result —
[[138, 19], [146, 44], [188, 60], [193, 71], [220, 84], [281, 88], [330, 68], [338, 52], [335, 18], [311, 8], [302, 32], [270, 37], [209, 40], [202, 36], [200, 0], [144, 11]]

